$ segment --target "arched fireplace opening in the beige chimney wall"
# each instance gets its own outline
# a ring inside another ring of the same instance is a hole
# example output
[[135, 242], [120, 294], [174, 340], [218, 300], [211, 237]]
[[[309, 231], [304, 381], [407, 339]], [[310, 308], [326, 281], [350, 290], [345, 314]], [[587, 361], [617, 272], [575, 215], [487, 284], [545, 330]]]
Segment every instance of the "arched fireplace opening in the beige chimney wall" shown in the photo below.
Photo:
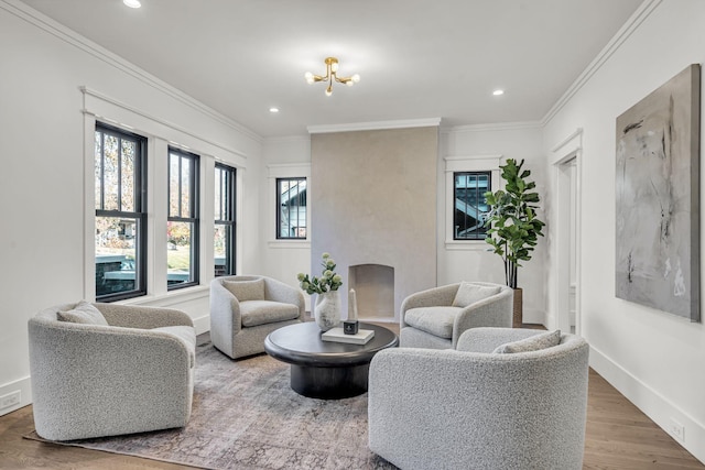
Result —
[[348, 284], [357, 297], [358, 319], [394, 318], [393, 267], [382, 264], [349, 266]]

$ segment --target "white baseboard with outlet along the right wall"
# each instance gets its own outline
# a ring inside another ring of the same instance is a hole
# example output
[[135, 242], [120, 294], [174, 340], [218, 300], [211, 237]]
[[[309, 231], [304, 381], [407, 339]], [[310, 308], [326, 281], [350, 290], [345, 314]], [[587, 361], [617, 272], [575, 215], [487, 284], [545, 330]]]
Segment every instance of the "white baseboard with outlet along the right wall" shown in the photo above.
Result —
[[[705, 425], [703, 423], [683, 412], [677, 405], [592, 346], [590, 367], [685, 450], [705, 463]], [[674, 422], [683, 426], [684, 439], [682, 440], [673, 431]]]

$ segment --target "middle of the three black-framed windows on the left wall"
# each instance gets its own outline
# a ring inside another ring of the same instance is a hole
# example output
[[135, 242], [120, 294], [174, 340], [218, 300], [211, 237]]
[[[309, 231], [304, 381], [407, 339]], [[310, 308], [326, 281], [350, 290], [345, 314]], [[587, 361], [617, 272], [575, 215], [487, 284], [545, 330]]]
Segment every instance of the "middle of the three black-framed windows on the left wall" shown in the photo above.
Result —
[[198, 283], [198, 155], [169, 149], [167, 288]]

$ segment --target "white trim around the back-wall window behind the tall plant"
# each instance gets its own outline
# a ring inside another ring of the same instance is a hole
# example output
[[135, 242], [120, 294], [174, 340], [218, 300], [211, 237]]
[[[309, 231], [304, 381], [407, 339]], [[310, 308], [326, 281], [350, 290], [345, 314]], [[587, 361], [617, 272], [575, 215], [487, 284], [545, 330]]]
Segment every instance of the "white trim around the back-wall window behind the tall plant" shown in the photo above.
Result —
[[446, 250], [486, 250], [489, 245], [485, 239], [455, 240], [455, 173], [489, 172], [492, 190], [502, 189], [499, 165], [501, 154], [484, 154], [468, 156], [446, 156], [445, 161], [445, 249]]

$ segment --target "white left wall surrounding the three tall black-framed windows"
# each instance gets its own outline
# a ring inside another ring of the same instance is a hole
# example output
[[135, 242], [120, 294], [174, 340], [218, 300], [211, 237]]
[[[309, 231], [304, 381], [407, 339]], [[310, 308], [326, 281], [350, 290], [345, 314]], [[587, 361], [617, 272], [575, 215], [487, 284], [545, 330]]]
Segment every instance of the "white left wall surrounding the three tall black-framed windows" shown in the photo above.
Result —
[[[261, 142], [22, 3], [0, 0], [0, 396], [19, 390], [25, 405], [31, 401], [26, 321], [42, 308], [83, 298], [86, 266], [93, 263], [86, 260], [85, 243], [93, 240], [85, 240], [84, 228], [90, 212], [84, 199], [89, 114], [82, 112], [86, 105], [79, 87], [109, 97], [102, 110], [121, 114], [104, 119], [131, 124], [135, 132], [150, 125], [150, 139], [189, 141], [200, 147], [195, 151], [207, 149], [209, 159], [237, 155], [228, 163], [241, 168], [239, 234], [250, 248], [240, 253], [242, 270], [259, 258], [259, 200], [248, 197], [248, 189], [259, 184], [261, 170], [253, 162]], [[203, 330], [208, 325], [207, 281], [202, 278], [203, 287], [138, 302], [183, 308]]]

